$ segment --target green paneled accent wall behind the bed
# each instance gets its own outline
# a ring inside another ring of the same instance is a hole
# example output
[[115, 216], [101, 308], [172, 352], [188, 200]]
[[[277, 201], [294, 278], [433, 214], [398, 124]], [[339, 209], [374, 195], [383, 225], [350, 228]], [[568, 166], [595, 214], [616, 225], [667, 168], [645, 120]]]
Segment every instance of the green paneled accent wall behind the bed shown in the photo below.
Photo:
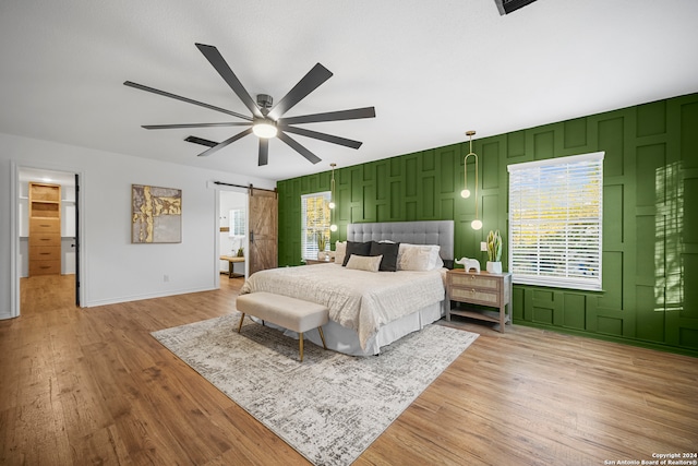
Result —
[[[514, 286], [514, 323], [698, 356], [698, 94], [473, 141], [479, 216], [460, 198], [468, 142], [335, 171], [338, 231], [349, 223], [454, 219], [457, 258], [507, 238], [507, 165], [605, 152], [601, 292]], [[473, 180], [474, 160], [468, 160]], [[329, 190], [329, 171], [279, 181], [279, 264], [300, 256], [300, 198]], [[470, 186], [470, 188], [472, 188]], [[502, 261], [507, 264], [505, 244]], [[515, 278], [516, 282], [516, 278]], [[693, 285], [693, 286], [691, 286]]]

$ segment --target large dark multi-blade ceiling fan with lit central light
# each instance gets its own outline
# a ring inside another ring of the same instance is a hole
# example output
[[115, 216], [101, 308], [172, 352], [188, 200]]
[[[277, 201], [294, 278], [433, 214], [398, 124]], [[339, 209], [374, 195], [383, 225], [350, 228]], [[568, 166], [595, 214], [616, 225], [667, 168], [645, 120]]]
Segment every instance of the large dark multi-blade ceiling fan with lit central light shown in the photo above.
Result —
[[184, 141], [208, 146], [208, 148], [201, 154], [200, 157], [204, 157], [219, 151], [227, 145], [246, 136], [250, 133], [254, 133], [260, 138], [260, 155], [258, 165], [267, 165], [268, 152], [269, 152], [269, 139], [278, 138], [286, 144], [288, 144], [296, 152], [301, 154], [308, 160], [313, 164], [317, 164], [321, 159], [315, 154], [310, 152], [306, 147], [301, 145], [298, 141], [293, 140], [287, 133], [294, 133], [306, 138], [313, 138], [316, 140], [329, 142], [333, 144], [339, 144], [347, 147], [359, 148], [361, 146], [360, 141], [353, 141], [346, 138], [339, 138], [332, 134], [321, 133], [317, 131], [311, 131], [304, 128], [297, 128], [293, 124], [300, 123], [314, 123], [321, 121], [338, 121], [338, 120], [356, 120], [360, 118], [373, 118], [375, 117], [374, 107], [354, 108], [351, 110], [328, 111], [324, 113], [302, 115], [298, 117], [284, 118], [284, 115], [290, 110], [296, 104], [301, 101], [305, 96], [315, 91], [321, 84], [332, 77], [333, 73], [322, 64], [317, 63], [312, 70], [308, 72], [299, 82], [293, 86], [291, 91], [281, 98], [276, 105], [273, 105], [272, 96], [267, 94], [258, 94], [256, 101], [252, 99], [248, 91], [244, 88], [238, 76], [232, 72], [226, 60], [222, 58], [218, 49], [214, 46], [196, 44], [198, 50], [206, 57], [210, 64], [216, 69], [218, 74], [224, 81], [232, 88], [236, 95], [248, 107], [251, 117], [241, 115], [236, 111], [227, 110], [225, 108], [216, 107], [203, 101], [193, 100], [191, 98], [182, 97], [176, 94], [171, 94], [165, 91], [159, 91], [153, 87], [144, 86], [131, 81], [127, 81], [123, 84], [130, 87], [134, 87], [141, 91], [146, 91], [154, 94], [159, 94], [165, 97], [174, 98], [177, 100], [185, 101], [188, 104], [198, 105], [212, 110], [220, 111], [229, 116], [239, 118], [241, 121], [226, 121], [220, 123], [180, 123], [180, 124], [144, 124], [146, 130], [163, 130], [163, 129], [181, 129], [181, 128], [214, 128], [214, 127], [249, 127], [244, 131], [228, 138], [222, 142], [209, 141], [203, 138], [188, 136]]

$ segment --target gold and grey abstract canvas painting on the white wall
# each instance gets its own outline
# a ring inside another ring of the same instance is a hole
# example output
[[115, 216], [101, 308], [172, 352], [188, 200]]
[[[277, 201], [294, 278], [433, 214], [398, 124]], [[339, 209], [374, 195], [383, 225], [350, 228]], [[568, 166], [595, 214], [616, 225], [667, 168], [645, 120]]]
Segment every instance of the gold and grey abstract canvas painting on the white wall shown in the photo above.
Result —
[[131, 242], [182, 242], [182, 190], [131, 188]]

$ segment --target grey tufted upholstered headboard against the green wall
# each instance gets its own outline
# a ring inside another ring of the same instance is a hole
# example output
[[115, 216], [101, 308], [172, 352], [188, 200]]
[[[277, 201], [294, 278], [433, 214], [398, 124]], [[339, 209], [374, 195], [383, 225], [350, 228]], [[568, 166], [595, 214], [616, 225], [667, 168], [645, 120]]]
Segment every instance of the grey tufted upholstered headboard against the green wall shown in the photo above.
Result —
[[454, 220], [383, 222], [347, 225], [349, 241], [389, 239], [412, 244], [441, 246], [441, 259], [454, 260]]

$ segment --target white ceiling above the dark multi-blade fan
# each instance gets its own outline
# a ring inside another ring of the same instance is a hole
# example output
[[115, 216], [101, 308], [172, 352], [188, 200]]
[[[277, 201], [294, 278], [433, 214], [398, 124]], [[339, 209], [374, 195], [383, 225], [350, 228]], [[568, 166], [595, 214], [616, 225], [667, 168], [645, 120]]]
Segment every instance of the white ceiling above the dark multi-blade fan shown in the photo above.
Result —
[[[0, 4], [0, 132], [279, 180], [698, 92], [698, 1], [22, 0]], [[232, 121], [124, 86], [134, 81], [248, 115], [194, 46], [216, 46], [253, 96], [278, 101], [316, 62], [334, 76], [286, 116], [375, 106], [305, 124], [358, 151], [278, 140], [257, 167], [249, 135], [209, 157], [183, 142]]]

